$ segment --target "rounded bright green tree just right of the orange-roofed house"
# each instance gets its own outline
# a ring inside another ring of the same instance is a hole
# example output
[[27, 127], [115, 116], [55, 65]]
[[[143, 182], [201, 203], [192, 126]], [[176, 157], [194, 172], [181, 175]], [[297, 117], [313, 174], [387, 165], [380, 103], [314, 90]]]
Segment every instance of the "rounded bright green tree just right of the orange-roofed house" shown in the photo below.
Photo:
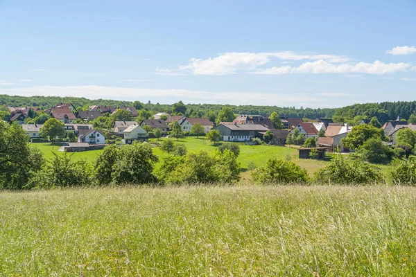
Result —
[[346, 148], [358, 150], [365, 141], [372, 138], [378, 138], [385, 141], [383, 129], [376, 128], [367, 124], [361, 124], [352, 128], [347, 137], [342, 139], [342, 143]]

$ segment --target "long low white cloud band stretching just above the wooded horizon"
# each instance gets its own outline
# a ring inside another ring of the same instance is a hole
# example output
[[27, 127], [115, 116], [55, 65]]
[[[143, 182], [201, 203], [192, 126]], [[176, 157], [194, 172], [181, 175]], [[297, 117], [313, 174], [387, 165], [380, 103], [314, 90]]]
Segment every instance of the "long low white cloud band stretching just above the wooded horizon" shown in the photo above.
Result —
[[[0, 89], [0, 94], [18, 96], [97, 96], [97, 98], [118, 100], [151, 100], [152, 102], [173, 103], [177, 100], [191, 103], [218, 103], [233, 105], [279, 105], [322, 107], [327, 100], [322, 96], [311, 96], [310, 93], [263, 93], [263, 92], [219, 92], [219, 91], [193, 91], [187, 89], [135, 89], [124, 87], [100, 86], [38, 86], [21, 87], [14, 89]], [[331, 96], [334, 96], [332, 93]], [[345, 105], [331, 103], [329, 107]]]

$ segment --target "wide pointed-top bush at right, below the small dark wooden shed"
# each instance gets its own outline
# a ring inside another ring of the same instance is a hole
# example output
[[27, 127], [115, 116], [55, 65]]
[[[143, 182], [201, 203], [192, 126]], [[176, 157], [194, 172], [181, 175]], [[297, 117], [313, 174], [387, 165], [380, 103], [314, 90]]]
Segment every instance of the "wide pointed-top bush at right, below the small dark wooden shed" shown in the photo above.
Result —
[[381, 179], [381, 173], [370, 164], [360, 159], [347, 161], [343, 154], [334, 155], [328, 166], [315, 172], [315, 181], [320, 184], [374, 184]]

